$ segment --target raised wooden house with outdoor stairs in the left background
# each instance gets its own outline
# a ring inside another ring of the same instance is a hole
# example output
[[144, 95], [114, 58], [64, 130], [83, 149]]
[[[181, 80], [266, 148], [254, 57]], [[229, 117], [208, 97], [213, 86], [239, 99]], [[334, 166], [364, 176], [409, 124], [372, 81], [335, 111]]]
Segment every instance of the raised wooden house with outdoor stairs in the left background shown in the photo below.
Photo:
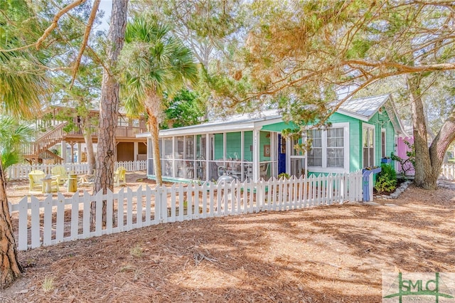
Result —
[[[74, 127], [65, 130], [68, 121], [58, 119], [73, 110], [68, 107], [52, 106], [36, 119], [36, 140], [23, 147], [23, 154], [30, 163], [73, 163], [86, 159], [82, 144], [85, 144], [80, 117], [73, 118]], [[73, 110], [74, 111], [74, 110]], [[90, 117], [97, 121], [98, 110], [90, 110]], [[130, 119], [119, 112], [115, 140], [117, 143], [116, 161], [146, 159], [146, 139], [136, 134], [146, 131], [146, 119]], [[92, 142], [98, 142], [97, 122], [92, 126]], [[76, 148], [75, 148], [76, 145]], [[60, 155], [52, 150], [60, 149]], [[96, 150], [96, 149], [95, 149]], [[75, 155], [75, 156], [74, 156]], [[85, 160], [86, 161], [86, 160]]]

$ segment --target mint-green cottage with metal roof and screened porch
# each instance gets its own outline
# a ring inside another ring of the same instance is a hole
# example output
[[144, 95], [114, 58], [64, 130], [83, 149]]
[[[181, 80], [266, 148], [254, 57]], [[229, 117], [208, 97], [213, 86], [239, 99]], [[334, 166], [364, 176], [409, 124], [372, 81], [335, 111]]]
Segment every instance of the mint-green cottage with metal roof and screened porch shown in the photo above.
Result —
[[[223, 174], [241, 181], [346, 173], [379, 166], [396, 153], [397, 139], [407, 136], [390, 95], [351, 99], [328, 119], [327, 129], [309, 129], [299, 139], [282, 136], [292, 127], [277, 110], [236, 115], [191, 127], [159, 132], [161, 169], [166, 181], [217, 180]], [[149, 133], [147, 176], [154, 179]], [[308, 152], [294, 148], [311, 138]]]

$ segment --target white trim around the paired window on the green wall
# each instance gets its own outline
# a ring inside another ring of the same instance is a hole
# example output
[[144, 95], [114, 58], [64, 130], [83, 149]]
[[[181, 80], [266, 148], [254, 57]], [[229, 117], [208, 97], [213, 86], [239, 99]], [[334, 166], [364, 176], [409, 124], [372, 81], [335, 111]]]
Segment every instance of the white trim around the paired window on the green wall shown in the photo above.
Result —
[[[327, 167], [327, 131], [322, 129], [322, 167], [308, 166], [308, 171], [312, 173], [348, 173], [350, 169], [349, 162], [349, 122], [333, 123], [329, 128], [343, 127], [343, 144], [344, 144], [344, 163], [341, 167]], [[307, 128], [309, 130], [309, 127]], [[289, 158], [290, 160], [290, 158]], [[288, 160], [288, 161], [289, 161]]]

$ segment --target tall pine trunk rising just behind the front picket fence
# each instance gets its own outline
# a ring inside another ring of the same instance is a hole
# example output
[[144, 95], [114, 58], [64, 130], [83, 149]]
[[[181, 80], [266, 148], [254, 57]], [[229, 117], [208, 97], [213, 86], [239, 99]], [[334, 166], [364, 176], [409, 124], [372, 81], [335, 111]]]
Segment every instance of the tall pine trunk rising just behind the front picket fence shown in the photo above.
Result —
[[[127, 27], [127, 0], [112, 1], [112, 16], [107, 34], [107, 66], [102, 76], [100, 100], [100, 134], [97, 144], [97, 161], [95, 186], [93, 193], [101, 191], [107, 193], [107, 188], [113, 190], [114, 162], [115, 162], [115, 131], [119, 110], [119, 83], [114, 75], [115, 65], [120, 50], [124, 44], [124, 33]], [[103, 201], [103, 222], [106, 220], [106, 203]], [[92, 226], [95, 225], [95, 203], [92, 203]]]

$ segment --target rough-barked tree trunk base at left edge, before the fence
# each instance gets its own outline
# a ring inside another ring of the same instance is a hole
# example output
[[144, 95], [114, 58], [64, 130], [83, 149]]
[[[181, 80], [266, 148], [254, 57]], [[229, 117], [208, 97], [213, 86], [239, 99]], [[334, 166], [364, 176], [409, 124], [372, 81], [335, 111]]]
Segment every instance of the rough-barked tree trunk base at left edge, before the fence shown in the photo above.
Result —
[[9, 216], [8, 198], [6, 197], [6, 180], [0, 161], [0, 289], [14, 282], [23, 272], [18, 262], [16, 240], [13, 225]]

